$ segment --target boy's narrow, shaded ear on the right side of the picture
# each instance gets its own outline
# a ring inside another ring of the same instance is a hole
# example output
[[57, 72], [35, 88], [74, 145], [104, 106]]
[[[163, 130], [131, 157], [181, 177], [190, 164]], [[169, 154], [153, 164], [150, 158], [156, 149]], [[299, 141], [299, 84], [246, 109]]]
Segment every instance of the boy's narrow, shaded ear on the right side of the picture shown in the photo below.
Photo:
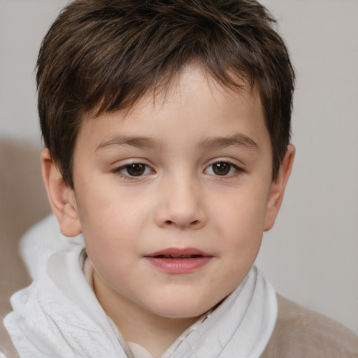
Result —
[[285, 193], [289, 174], [292, 170], [294, 153], [294, 146], [292, 144], [287, 145], [287, 152], [280, 165], [278, 176], [271, 183], [270, 193], [268, 194], [264, 231], [270, 230], [275, 223], [275, 218], [278, 215], [278, 210], [280, 210], [283, 194]]

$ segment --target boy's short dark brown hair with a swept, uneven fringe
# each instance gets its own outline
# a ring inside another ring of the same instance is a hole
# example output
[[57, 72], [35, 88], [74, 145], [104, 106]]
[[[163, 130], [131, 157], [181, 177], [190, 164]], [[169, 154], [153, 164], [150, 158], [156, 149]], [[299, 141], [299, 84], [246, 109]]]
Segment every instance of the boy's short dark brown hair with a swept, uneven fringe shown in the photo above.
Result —
[[129, 108], [191, 62], [229, 88], [238, 78], [257, 86], [275, 178], [289, 143], [294, 71], [274, 25], [253, 0], [70, 3], [43, 39], [36, 77], [43, 140], [64, 180], [73, 187], [85, 113]]

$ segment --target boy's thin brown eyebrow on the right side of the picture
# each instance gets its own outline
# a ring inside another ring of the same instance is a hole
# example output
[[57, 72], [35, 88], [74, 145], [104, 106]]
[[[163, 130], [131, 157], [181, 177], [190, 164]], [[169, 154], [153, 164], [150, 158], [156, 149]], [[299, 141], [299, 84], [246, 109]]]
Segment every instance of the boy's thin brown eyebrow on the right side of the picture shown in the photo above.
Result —
[[220, 149], [232, 146], [259, 151], [259, 145], [245, 134], [234, 134], [229, 137], [204, 138], [199, 143], [199, 148], [201, 149]]

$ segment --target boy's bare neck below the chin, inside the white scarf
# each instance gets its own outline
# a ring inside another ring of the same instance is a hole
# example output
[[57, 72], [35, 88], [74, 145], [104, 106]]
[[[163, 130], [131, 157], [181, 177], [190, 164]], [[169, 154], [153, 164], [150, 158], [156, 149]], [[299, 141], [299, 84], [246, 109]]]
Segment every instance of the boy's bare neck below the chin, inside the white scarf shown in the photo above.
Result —
[[93, 274], [94, 292], [106, 314], [115, 322], [126, 341], [142, 345], [154, 357], [160, 357], [176, 338], [198, 317], [161, 317], [115, 292]]

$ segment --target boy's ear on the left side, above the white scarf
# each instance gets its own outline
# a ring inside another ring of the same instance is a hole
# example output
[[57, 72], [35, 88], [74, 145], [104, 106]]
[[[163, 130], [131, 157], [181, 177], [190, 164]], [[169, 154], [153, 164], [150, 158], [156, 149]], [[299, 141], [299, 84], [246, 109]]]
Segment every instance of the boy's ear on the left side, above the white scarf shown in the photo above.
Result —
[[41, 152], [42, 177], [48, 192], [51, 208], [65, 236], [76, 236], [82, 232], [78, 217], [74, 190], [67, 185], [53, 162], [48, 148]]

